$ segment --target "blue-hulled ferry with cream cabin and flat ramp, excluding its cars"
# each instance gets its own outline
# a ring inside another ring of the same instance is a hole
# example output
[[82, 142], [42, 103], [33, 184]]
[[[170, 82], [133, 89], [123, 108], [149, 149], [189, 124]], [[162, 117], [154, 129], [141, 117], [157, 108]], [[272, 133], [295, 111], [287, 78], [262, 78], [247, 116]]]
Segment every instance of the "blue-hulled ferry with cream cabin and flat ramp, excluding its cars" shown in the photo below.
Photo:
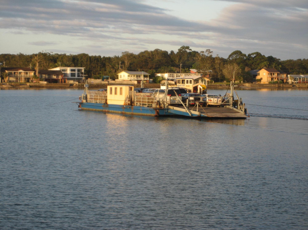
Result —
[[[107, 85], [103, 91], [94, 91], [85, 89], [76, 102], [79, 109], [101, 111], [104, 113], [121, 113], [129, 115], [143, 116], [182, 116], [182, 117], [204, 117], [204, 118], [237, 118], [245, 119], [249, 117], [247, 109], [242, 99], [233, 96], [233, 82], [230, 83], [231, 93], [226, 93], [221, 97], [218, 104], [207, 105], [203, 98], [196, 101], [195, 98], [188, 98], [185, 103], [182, 98], [170, 96], [167, 94], [168, 89], [172, 86], [161, 86], [164, 94], [161, 93], [139, 93], [134, 90], [133, 85]], [[194, 101], [193, 105], [190, 101]]]

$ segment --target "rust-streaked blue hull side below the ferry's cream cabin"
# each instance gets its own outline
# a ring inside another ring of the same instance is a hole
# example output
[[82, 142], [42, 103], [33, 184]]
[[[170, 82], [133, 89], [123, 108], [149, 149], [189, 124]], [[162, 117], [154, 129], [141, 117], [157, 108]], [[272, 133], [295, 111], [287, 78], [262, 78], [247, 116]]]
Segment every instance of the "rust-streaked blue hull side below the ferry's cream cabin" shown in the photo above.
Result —
[[168, 109], [157, 109], [144, 106], [131, 106], [131, 105], [110, 105], [105, 103], [90, 103], [80, 102], [80, 109], [101, 111], [105, 113], [122, 113], [131, 115], [142, 115], [142, 116], [170, 116], [174, 115], [168, 112]]

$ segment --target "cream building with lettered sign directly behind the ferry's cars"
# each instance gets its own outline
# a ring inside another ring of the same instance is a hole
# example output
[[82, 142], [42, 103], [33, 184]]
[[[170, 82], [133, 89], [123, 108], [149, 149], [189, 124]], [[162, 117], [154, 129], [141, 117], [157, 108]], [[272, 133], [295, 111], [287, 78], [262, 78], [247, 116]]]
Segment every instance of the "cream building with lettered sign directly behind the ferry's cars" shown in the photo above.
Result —
[[185, 76], [176, 79], [176, 86], [188, 89], [189, 92], [202, 93], [208, 85], [209, 78], [203, 76]]

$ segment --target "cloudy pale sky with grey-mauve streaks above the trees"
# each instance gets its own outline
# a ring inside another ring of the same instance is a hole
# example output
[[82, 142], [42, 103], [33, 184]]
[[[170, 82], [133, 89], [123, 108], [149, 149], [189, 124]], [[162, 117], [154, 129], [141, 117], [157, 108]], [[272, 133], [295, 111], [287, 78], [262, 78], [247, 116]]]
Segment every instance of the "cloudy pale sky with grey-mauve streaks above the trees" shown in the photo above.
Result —
[[181, 46], [308, 58], [307, 0], [1, 0], [0, 54], [121, 56]]

